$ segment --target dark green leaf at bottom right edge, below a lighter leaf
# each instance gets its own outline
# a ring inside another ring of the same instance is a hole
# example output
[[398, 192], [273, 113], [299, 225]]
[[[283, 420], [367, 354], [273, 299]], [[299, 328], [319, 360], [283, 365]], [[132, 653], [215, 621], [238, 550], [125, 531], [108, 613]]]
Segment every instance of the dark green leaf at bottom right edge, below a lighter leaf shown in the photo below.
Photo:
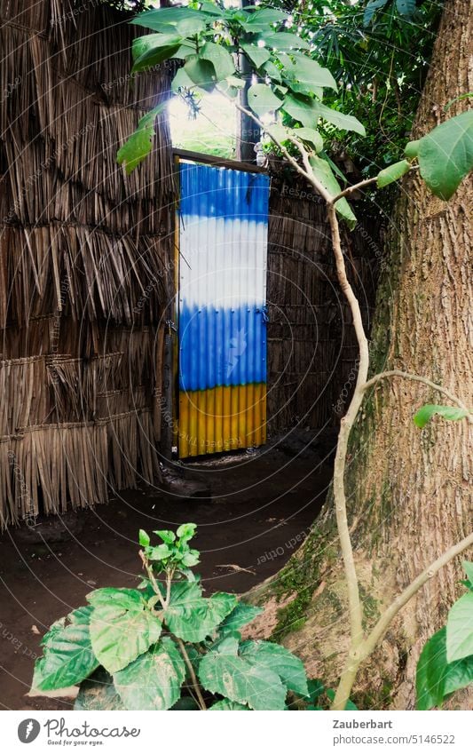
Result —
[[444, 627], [422, 649], [415, 681], [418, 710], [440, 707], [448, 694], [466, 688], [473, 681], [473, 655], [448, 663], [446, 636]]

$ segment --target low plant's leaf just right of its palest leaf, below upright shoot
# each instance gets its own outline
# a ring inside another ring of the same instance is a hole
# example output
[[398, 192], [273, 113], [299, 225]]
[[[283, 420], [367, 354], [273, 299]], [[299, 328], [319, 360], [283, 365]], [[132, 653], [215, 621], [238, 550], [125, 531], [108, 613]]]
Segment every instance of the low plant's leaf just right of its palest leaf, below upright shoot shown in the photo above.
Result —
[[185, 641], [203, 641], [217, 629], [237, 602], [233, 594], [213, 594], [209, 599], [201, 596], [201, 587], [195, 582], [177, 582], [171, 587], [169, 606], [163, 612], [169, 631]]

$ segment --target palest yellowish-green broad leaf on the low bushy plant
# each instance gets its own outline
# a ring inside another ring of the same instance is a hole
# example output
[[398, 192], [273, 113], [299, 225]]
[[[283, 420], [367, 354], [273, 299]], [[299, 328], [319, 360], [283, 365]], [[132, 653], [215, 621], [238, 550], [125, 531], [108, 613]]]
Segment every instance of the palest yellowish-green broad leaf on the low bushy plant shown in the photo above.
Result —
[[[103, 597], [103, 592], [107, 590], [98, 591], [102, 592]], [[99, 663], [109, 673], [114, 673], [136, 660], [138, 655], [146, 652], [160, 638], [162, 624], [147, 609], [146, 601], [139, 591], [120, 590], [123, 592], [122, 599], [110, 595], [108, 601], [98, 600], [98, 591], [92, 592], [87, 598], [94, 607], [91, 615], [91, 644]]]

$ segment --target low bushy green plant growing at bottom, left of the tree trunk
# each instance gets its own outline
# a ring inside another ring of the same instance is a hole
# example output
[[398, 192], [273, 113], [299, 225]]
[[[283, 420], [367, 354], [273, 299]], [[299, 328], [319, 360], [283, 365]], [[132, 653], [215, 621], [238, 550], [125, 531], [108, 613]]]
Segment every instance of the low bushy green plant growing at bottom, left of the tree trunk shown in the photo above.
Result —
[[[106, 687], [114, 709], [286, 710], [288, 692], [310, 702], [304, 665], [271, 641], [239, 629], [260, 607], [234, 594], [206, 598], [192, 568], [195, 524], [139, 533], [146, 578], [138, 589], [91, 591], [44, 636], [32, 688], [60, 690], [85, 679]], [[81, 694], [79, 696], [79, 706]]]

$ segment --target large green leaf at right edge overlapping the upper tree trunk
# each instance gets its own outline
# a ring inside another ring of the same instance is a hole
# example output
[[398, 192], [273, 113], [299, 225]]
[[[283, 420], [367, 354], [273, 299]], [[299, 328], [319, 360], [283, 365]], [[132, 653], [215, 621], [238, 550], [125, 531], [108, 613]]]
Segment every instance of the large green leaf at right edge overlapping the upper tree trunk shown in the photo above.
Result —
[[418, 159], [432, 194], [450, 199], [473, 168], [473, 110], [450, 118], [423, 136]]

